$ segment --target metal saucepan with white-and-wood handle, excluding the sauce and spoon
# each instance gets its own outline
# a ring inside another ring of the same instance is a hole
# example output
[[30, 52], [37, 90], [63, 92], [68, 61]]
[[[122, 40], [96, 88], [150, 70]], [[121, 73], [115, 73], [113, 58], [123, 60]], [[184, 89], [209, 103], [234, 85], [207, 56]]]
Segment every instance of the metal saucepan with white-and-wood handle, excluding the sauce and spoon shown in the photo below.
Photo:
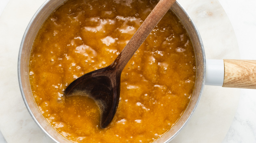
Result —
[[[64, 0], [48, 0], [37, 10], [23, 36], [18, 58], [19, 85], [27, 109], [45, 134], [59, 143], [71, 141], [58, 134], [38, 109], [29, 82], [29, 58], [33, 41], [40, 26], [50, 13], [63, 2]], [[195, 51], [197, 72], [195, 88], [187, 109], [170, 131], [156, 141], [161, 143], [171, 141], [189, 121], [198, 105], [205, 83], [224, 87], [256, 88], [256, 61], [207, 60], [206, 66], [203, 42], [196, 25], [178, 2], [172, 6], [171, 10], [181, 20], [190, 36]]]

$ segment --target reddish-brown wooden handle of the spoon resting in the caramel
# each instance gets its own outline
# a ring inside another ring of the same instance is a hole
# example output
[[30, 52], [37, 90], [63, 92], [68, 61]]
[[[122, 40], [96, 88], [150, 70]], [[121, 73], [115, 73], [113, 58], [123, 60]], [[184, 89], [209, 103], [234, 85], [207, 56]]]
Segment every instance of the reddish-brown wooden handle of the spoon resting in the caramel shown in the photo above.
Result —
[[176, 0], [160, 0], [150, 12], [145, 21], [140, 25], [131, 40], [127, 43], [115, 61], [111, 64], [117, 71], [122, 72], [123, 68], [139, 49], [139, 46], [146, 40], [151, 31], [156, 27], [165, 13], [171, 8]]

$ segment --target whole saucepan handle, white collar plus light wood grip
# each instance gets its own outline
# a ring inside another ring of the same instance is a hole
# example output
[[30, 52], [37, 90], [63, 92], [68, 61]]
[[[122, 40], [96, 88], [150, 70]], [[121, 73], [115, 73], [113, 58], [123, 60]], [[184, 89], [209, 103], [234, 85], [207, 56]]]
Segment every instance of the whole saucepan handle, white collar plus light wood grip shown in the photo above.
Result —
[[256, 89], [256, 60], [206, 60], [205, 84]]

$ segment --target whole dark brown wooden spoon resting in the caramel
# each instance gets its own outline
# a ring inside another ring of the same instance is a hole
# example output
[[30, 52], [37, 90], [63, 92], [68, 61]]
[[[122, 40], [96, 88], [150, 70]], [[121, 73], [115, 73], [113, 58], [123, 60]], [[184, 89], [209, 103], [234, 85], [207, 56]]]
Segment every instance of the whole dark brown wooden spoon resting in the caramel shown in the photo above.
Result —
[[66, 96], [94, 99], [100, 110], [101, 128], [108, 126], [117, 111], [122, 70], [174, 2], [160, 0], [111, 65], [80, 76], [66, 88]]

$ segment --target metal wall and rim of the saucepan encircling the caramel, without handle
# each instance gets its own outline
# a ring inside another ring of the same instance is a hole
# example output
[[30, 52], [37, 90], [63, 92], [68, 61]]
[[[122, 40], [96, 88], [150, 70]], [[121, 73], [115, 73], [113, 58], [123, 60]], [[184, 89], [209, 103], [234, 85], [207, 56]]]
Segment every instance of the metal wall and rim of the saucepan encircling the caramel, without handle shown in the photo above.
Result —
[[[50, 15], [50, 13], [63, 4], [63, 0], [48, 0], [46, 1], [35, 13], [32, 17], [31, 22], [29, 23], [25, 34], [23, 36], [20, 51], [19, 51], [19, 58], [18, 58], [18, 78], [19, 78], [19, 85], [22, 93], [22, 97], [26, 104], [26, 107], [31, 114], [32, 118], [38, 124], [38, 126], [50, 136], [55, 142], [70, 142], [62, 135], [58, 134], [52, 126], [46, 121], [46, 119], [41, 114], [38, 106], [36, 105], [29, 81], [29, 58], [30, 52], [32, 49], [32, 44], [35, 39], [35, 36], [46, 20], [46, 18]], [[182, 24], [186, 28], [190, 39], [192, 41], [195, 57], [196, 57], [196, 82], [195, 88], [193, 91], [193, 95], [191, 97], [191, 101], [188, 104], [187, 109], [184, 111], [181, 118], [177, 121], [177, 123], [160, 137], [156, 142], [169, 142], [172, 140], [184, 127], [184, 125], [188, 122], [191, 118], [192, 114], [195, 111], [195, 108], [199, 102], [200, 96], [202, 94], [203, 86], [204, 86], [204, 78], [205, 78], [205, 56], [204, 56], [204, 49], [203, 43], [200, 38], [199, 32], [191, 20], [190, 16], [185, 12], [185, 10], [181, 7], [181, 5], [176, 2], [171, 10], [177, 15], [177, 17], [181, 20]]]

